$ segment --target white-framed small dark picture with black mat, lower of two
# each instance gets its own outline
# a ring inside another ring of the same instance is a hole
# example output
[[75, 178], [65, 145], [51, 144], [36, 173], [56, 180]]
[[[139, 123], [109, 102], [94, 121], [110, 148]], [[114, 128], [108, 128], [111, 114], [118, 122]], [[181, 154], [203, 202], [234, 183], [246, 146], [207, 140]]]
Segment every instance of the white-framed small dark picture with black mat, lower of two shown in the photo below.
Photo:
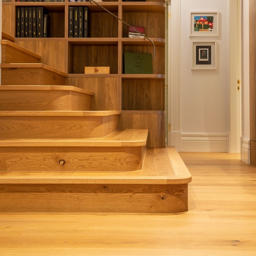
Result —
[[191, 69], [217, 68], [217, 42], [191, 42]]

